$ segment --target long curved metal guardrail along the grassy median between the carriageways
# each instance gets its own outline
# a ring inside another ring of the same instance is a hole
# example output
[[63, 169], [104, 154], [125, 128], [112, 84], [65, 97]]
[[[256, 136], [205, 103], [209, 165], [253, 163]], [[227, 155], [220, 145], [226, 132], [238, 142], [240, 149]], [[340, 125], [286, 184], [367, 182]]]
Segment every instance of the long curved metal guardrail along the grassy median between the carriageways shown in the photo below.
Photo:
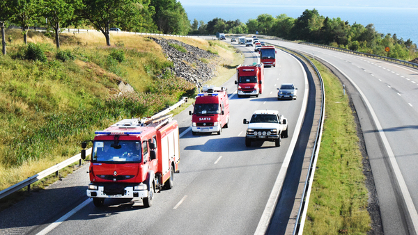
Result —
[[[269, 44], [271, 44], [271, 43], [269, 43]], [[274, 45], [274, 44], [272, 44], [272, 45]], [[314, 151], [312, 152], [311, 161], [309, 163], [309, 168], [308, 168], [308, 173], [307, 173], [307, 179], [305, 180], [304, 190], [303, 190], [302, 197], [301, 197], [302, 200], [300, 202], [299, 211], [297, 212], [295, 228], [293, 229], [293, 235], [295, 235], [295, 234], [302, 234], [303, 233], [304, 221], [306, 219], [307, 209], [308, 209], [308, 204], [309, 204], [309, 196], [310, 196], [310, 192], [311, 192], [311, 188], [312, 188], [312, 182], [314, 181], [316, 160], [318, 159], [318, 154], [319, 154], [319, 149], [320, 149], [320, 140], [322, 138], [323, 124], [324, 124], [324, 120], [325, 120], [325, 118], [324, 118], [325, 117], [325, 88], [324, 88], [324, 83], [323, 83], [322, 76], [320, 76], [320, 72], [318, 71], [318, 69], [316, 68], [314, 63], [312, 63], [311, 60], [309, 60], [306, 56], [304, 56], [303, 54], [301, 54], [297, 51], [293, 51], [291, 49], [287, 49], [286, 47], [281, 47], [281, 46], [278, 46], [278, 45], [274, 45], [274, 46], [278, 47], [280, 49], [284, 49], [286, 51], [290, 51], [293, 54], [297, 54], [297, 56], [300, 56], [304, 60], [306, 60], [307, 63], [309, 63], [309, 65], [311, 65], [311, 67], [314, 68], [316, 74], [318, 75], [318, 79], [320, 81], [320, 86], [321, 86], [321, 90], [322, 90], [322, 94], [321, 94], [322, 95], [322, 103], [321, 103], [321, 107], [320, 107], [321, 110], [320, 110], [319, 125], [318, 125], [318, 129], [316, 131]]]

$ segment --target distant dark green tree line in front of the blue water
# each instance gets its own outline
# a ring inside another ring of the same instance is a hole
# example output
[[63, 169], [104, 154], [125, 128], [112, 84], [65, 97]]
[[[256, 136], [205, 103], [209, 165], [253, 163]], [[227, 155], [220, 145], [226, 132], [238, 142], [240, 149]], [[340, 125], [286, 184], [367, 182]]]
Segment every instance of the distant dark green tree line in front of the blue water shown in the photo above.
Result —
[[[411, 60], [417, 58], [417, 44], [412, 40], [403, 40], [396, 34], [383, 34], [376, 31], [373, 24], [363, 26], [352, 25], [342, 19], [323, 17], [318, 10], [304, 10], [300, 17], [294, 19], [286, 14], [272, 17], [269, 14], [258, 15], [256, 19], [248, 19], [247, 23], [226, 21], [215, 18], [208, 24], [194, 19], [190, 33], [215, 34], [238, 33], [272, 35], [286, 40], [303, 40], [318, 44], [340, 47], [368, 54], [389, 56], [392, 58]], [[385, 48], [389, 47], [389, 52]]]

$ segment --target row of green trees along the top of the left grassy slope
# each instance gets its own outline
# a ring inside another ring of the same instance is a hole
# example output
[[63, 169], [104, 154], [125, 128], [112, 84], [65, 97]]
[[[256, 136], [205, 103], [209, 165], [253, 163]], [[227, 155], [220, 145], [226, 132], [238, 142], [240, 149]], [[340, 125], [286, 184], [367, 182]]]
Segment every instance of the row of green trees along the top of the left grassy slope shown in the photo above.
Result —
[[6, 54], [5, 29], [20, 26], [27, 44], [29, 27], [47, 27], [60, 47], [61, 27], [92, 26], [110, 45], [109, 29], [186, 35], [190, 22], [176, 0], [2, 0], [0, 27], [2, 52]]

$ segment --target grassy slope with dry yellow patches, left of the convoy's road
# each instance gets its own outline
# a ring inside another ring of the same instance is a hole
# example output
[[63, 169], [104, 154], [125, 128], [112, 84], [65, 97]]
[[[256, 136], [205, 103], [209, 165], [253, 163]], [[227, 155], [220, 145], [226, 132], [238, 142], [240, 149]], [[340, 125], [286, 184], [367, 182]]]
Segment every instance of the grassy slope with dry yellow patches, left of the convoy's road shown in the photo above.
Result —
[[[39, 60], [27, 59], [20, 31], [8, 30], [6, 38], [8, 54], [0, 57], [0, 190], [79, 153], [79, 143], [95, 130], [152, 115], [196, 92], [192, 83], [162, 74], [171, 61], [160, 45], [139, 35], [111, 34], [114, 45], [106, 47], [101, 33], [61, 34], [56, 50], [51, 38], [30, 31], [32, 56], [45, 52]], [[238, 57], [218, 43], [173, 39], [229, 55], [208, 61], [220, 67]], [[133, 92], [121, 93], [119, 83]]]

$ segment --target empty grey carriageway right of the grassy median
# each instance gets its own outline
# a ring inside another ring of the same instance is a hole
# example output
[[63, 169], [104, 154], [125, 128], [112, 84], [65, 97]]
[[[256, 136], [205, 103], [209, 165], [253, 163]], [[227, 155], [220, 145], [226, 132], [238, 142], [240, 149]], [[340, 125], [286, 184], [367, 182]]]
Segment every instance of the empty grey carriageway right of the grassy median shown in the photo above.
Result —
[[266, 40], [334, 67], [353, 99], [385, 234], [418, 233], [418, 70], [304, 44]]

